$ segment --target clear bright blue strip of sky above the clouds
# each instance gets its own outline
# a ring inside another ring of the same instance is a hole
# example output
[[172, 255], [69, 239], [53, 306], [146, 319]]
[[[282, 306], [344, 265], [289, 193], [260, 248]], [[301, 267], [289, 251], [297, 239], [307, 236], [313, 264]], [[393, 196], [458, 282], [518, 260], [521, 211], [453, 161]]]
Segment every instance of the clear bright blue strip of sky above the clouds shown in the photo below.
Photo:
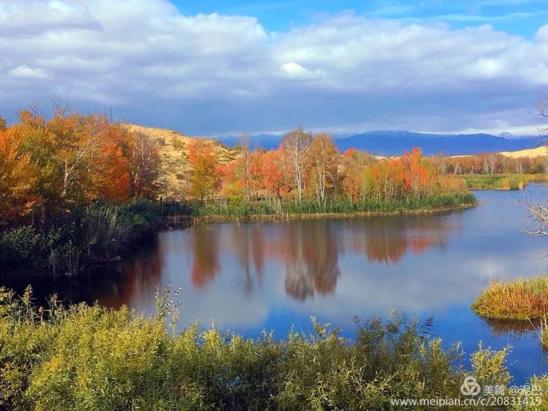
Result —
[[532, 37], [546, 24], [546, 1], [534, 0], [295, 0], [253, 2], [174, 0], [184, 14], [221, 13], [250, 15], [272, 31], [286, 31], [310, 24], [322, 15], [352, 11], [367, 18], [405, 20], [409, 22], [443, 21], [455, 28], [490, 24], [496, 30]]

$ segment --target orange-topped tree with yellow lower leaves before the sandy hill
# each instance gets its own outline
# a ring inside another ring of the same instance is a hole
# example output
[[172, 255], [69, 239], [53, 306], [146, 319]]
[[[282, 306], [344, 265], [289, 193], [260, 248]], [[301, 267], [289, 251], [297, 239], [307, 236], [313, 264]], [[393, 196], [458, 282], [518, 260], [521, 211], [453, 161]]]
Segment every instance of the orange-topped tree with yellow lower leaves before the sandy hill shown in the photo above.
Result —
[[210, 141], [196, 139], [189, 145], [192, 167], [190, 192], [192, 196], [208, 198], [213, 195], [218, 180], [218, 158]]

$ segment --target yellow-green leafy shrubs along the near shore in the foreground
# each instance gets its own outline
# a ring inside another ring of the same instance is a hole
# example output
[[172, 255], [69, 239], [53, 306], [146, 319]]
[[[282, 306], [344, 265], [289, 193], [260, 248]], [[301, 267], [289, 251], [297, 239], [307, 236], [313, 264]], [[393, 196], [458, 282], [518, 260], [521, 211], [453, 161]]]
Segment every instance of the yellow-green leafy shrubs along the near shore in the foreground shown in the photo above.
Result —
[[[172, 332], [172, 298], [158, 313], [99, 306], [46, 309], [0, 294], [0, 407], [113, 410], [402, 409], [400, 398], [462, 398], [466, 375], [510, 383], [506, 350], [479, 346], [470, 373], [403, 316], [357, 323], [353, 340], [315, 322], [313, 335], [243, 339], [198, 326]], [[468, 358], [468, 357], [467, 357]], [[420, 409], [421, 407], [419, 407]], [[426, 408], [426, 407], [425, 407]], [[455, 408], [461, 409], [461, 408]]]

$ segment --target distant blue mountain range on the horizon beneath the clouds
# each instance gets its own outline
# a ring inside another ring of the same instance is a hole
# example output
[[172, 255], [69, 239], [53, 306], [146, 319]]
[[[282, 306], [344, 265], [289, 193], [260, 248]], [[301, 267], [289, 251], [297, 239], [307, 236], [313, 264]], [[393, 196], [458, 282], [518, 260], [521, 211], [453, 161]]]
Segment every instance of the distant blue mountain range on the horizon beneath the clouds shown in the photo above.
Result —
[[[506, 138], [509, 135], [490, 134], [426, 134], [407, 131], [372, 131], [351, 136], [334, 136], [341, 152], [347, 149], [365, 150], [378, 156], [400, 156], [413, 147], [420, 147], [426, 156], [443, 152], [448, 156], [471, 155], [484, 152], [517, 151], [533, 149], [541, 144], [538, 136]], [[512, 136], [513, 137], [513, 136]], [[282, 135], [261, 134], [251, 136], [252, 147], [266, 150], [276, 149]], [[218, 138], [233, 147], [239, 138], [233, 136]]]

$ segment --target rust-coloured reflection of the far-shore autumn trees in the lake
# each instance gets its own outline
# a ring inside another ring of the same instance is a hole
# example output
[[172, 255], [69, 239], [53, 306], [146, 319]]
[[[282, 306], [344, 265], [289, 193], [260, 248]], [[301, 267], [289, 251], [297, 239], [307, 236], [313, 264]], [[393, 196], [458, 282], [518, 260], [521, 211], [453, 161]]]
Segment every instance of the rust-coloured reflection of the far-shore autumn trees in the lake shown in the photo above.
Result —
[[365, 255], [368, 262], [397, 265], [408, 253], [442, 249], [459, 228], [454, 222], [422, 215], [199, 225], [189, 229], [191, 282], [195, 288], [207, 287], [222, 271], [220, 254], [229, 251], [244, 277], [244, 294], [261, 282], [266, 259], [284, 267], [284, 289], [293, 298], [332, 294], [341, 275], [339, 255], [346, 250]]

